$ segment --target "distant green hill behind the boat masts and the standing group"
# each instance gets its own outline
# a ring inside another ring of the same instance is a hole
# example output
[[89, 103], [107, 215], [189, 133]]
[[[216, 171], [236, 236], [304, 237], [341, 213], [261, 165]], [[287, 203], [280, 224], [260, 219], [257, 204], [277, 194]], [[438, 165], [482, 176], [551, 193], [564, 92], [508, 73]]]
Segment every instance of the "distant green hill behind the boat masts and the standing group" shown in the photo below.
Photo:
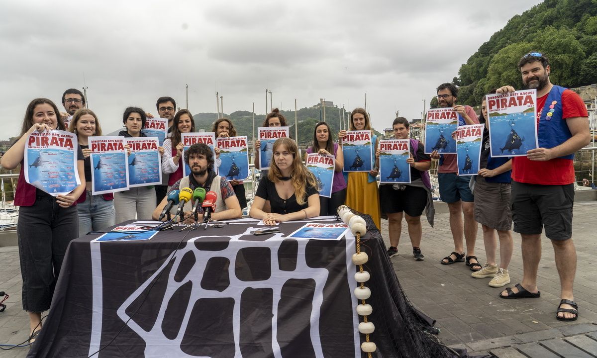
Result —
[[[340, 117], [342, 109], [338, 109], [336, 106], [325, 107], [325, 121], [330, 125], [333, 133], [334, 141], [337, 140], [338, 131], [340, 131]], [[297, 122], [298, 122], [298, 142], [301, 144], [309, 144], [313, 141], [313, 132], [315, 131], [315, 125], [318, 124], [319, 106], [316, 107], [305, 107], [297, 111]], [[280, 113], [286, 118], [287, 124], [290, 127], [290, 137], [294, 138], [294, 111], [281, 110]], [[253, 129], [253, 113], [247, 110], [238, 110], [230, 114], [224, 113], [224, 117], [232, 121], [234, 128], [236, 129], [237, 135], [247, 135], [249, 140], [253, 138], [251, 129]], [[195, 128], [205, 129], [206, 132], [210, 132], [213, 129], [213, 123], [217, 119], [217, 113], [197, 113], [193, 115], [195, 120]], [[344, 126], [349, 122], [350, 113], [344, 112]], [[257, 137], [257, 127], [263, 125], [265, 115], [255, 115], [255, 136]], [[374, 123], [374, 122], [373, 122]], [[346, 128], [344, 128], [346, 129]], [[376, 132], [379, 135], [379, 132]]]

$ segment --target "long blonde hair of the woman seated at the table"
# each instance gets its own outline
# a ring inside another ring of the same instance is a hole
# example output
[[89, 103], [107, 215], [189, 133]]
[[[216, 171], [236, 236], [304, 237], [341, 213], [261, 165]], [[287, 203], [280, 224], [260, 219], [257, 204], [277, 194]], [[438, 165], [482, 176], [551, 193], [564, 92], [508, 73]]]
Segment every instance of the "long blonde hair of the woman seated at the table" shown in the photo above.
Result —
[[[298, 155], [298, 147], [294, 140], [287, 137], [279, 138], [273, 142], [272, 152], [276, 152], [276, 148], [279, 146], [285, 146], [288, 152], [293, 155], [293, 169], [290, 172], [291, 183], [294, 187], [294, 195], [297, 198], [298, 205], [303, 205], [307, 202], [307, 198], [304, 197], [307, 192], [307, 184], [310, 184], [310, 186], [315, 188], [317, 187], [315, 175], [304, 166], [303, 161]], [[272, 158], [267, 178], [272, 181], [272, 183], [278, 183], [278, 181], [280, 181], [279, 177], [282, 177], [282, 172], [280, 171], [280, 168], [278, 168], [278, 165], [276, 165], [276, 161]]]

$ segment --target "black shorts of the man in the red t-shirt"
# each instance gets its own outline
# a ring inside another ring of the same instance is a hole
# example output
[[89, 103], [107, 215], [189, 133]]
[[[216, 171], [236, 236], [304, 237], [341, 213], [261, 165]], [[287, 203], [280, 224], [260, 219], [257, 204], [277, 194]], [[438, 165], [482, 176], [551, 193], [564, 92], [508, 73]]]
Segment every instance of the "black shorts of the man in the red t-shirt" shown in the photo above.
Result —
[[543, 232], [551, 240], [572, 237], [574, 184], [539, 185], [512, 181], [510, 208], [514, 231], [537, 235]]

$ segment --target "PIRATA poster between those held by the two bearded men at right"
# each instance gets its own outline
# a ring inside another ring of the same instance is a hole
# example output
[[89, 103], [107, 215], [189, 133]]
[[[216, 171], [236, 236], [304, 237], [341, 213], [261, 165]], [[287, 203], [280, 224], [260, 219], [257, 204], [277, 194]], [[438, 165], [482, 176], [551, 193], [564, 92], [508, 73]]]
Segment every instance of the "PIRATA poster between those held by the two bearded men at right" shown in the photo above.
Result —
[[461, 125], [456, 129], [458, 175], [476, 175], [479, 172], [484, 124]]

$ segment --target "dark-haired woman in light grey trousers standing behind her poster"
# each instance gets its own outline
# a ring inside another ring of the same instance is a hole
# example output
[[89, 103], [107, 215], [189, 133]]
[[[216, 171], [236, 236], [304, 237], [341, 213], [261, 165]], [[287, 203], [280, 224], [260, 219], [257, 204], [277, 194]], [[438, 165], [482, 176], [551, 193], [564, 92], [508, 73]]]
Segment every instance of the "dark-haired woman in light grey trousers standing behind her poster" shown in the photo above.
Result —
[[[118, 135], [127, 138], [147, 137], [141, 129], [145, 126], [145, 111], [139, 107], [128, 107], [122, 115], [122, 124], [127, 130]], [[164, 147], [159, 147], [164, 155]], [[134, 187], [125, 192], [114, 193], [114, 208], [119, 222], [134, 220], [151, 220], [155, 209], [155, 190], [153, 186]]]

